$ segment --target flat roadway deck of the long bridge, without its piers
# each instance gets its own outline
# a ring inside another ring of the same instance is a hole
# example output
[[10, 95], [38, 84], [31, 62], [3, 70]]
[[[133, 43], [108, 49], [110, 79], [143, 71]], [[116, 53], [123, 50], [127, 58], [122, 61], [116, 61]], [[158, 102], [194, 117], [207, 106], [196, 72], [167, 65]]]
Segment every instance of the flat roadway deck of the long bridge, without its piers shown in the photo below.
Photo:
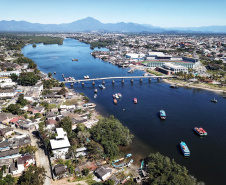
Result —
[[61, 81], [64, 83], [80, 83], [88, 81], [97, 81], [97, 80], [114, 80], [114, 79], [134, 79], [134, 78], [175, 78], [175, 76], [121, 76], [121, 77], [103, 77], [103, 78], [92, 78], [92, 79], [79, 79], [79, 80], [70, 80], [70, 81]]

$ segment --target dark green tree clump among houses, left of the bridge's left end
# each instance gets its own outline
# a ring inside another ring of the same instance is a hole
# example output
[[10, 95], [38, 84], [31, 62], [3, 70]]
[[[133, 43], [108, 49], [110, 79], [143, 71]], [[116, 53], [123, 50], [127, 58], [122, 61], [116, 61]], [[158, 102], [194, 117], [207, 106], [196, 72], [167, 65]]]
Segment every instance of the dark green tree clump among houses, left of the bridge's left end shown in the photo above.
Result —
[[40, 77], [33, 72], [21, 73], [18, 78], [18, 83], [22, 86], [33, 86], [35, 85]]

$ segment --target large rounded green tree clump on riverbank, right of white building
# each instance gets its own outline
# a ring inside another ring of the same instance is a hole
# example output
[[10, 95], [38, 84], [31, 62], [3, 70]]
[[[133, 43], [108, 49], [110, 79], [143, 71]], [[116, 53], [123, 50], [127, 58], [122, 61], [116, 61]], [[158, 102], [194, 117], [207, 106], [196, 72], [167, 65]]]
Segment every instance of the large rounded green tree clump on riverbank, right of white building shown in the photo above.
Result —
[[119, 145], [129, 145], [133, 138], [129, 129], [114, 116], [101, 118], [97, 125], [91, 128], [90, 133], [93, 140], [103, 146], [104, 153], [109, 159], [113, 159], [119, 154]]

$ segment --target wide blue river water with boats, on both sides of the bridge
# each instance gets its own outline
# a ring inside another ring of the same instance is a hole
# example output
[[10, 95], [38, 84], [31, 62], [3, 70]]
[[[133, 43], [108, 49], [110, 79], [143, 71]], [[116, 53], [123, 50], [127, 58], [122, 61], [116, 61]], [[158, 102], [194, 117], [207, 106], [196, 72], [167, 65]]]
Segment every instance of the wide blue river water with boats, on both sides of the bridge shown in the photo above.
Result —
[[[106, 49], [102, 49], [106, 50]], [[128, 73], [128, 68], [119, 68], [108, 62], [93, 58], [89, 45], [74, 39], [65, 39], [63, 45], [37, 44], [36, 48], [27, 45], [22, 53], [33, 59], [42, 72], [53, 73], [54, 77], [63, 81], [65, 77], [73, 76], [83, 79], [110, 76], [142, 76], [142, 71]], [[78, 62], [72, 61], [78, 59]], [[186, 166], [191, 175], [206, 184], [225, 184], [226, 173], [226, 99], [221, 94], [192, 88], [171, 89], [169, 84], [152, 80], [150, 83], [143, 79], [133, 84], [125, 80], [105, 81], [106, 89], [101, 90], [96, 82], [86, 82], [84, 86], [75, 84], [76, 92], [83, 92], [90, 102], [97, 104], [97, 111], [104, 116], [114, 115], [123, 125], [134, 134], [133, 144], [122, 147], [125, 153], [133, 153], [135, 162], [151, 152], [160, 152], [173, 158], [177, 163]], [[70, 84], [68, 84], [70, 87]], [[98, 88], [97, 98], [94, 99], [94, 89]], [[112, 95], [120, 92], [123, 96], [117, 105], [113, 104]], [[133, 104], [133, 98], [138, 99]], [[218, 103], [210, 102], [216, 98]], [[125, 111], [123, 111], [125, 109]], [[167, 118], [159, 119], [159, 110], [166, 111]], [[194, 133], [194, 127], [203, 127], [208, 136], [200, 138]], [[191, 156], [184, 158], [180, 141], [185, 141]]]

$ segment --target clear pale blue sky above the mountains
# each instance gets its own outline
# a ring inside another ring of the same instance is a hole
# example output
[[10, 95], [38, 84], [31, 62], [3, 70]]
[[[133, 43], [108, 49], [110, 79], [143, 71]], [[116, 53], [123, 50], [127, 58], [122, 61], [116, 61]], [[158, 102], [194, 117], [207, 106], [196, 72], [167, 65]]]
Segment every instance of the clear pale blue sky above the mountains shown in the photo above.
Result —
[[61, 24], [93, 17], [165, 28], [221, 26], [225, 7], [226, 0], [0, 0], [0, 20]]

